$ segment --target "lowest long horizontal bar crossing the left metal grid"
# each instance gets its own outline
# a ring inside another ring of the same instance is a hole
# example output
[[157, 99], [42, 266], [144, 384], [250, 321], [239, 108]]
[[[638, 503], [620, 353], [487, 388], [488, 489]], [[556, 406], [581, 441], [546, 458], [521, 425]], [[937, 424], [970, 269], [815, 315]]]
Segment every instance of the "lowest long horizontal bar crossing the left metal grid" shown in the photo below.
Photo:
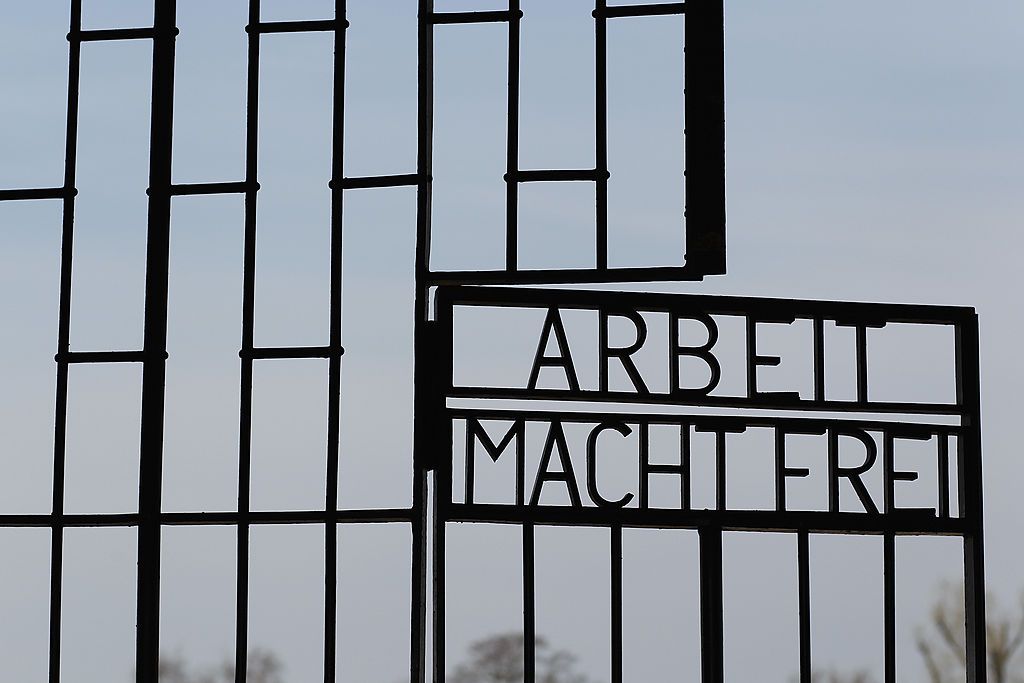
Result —
[[[412, 522], [414, 513], [408, 508], [337, 510], [271, 510], [263, 512], [164, 512], [160, 523], [166, 526], [238, 524], [323, 524], [328, 521], [340, 524], [380, 524]], [[139, 515], [127, 513], [97, 514], [8, 514], [0, 515], [0, 527], [56, 527], [56, 526], [138, 526]]]

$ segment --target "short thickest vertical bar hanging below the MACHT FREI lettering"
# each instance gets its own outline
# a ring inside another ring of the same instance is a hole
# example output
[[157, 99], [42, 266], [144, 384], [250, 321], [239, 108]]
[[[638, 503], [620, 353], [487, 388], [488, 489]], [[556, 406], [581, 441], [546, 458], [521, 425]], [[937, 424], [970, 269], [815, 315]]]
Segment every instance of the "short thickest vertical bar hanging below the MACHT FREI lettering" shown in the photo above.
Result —
[[700, 681], [725, 680], [722, 610], [722, 529], [701, 526], [700, 544]]

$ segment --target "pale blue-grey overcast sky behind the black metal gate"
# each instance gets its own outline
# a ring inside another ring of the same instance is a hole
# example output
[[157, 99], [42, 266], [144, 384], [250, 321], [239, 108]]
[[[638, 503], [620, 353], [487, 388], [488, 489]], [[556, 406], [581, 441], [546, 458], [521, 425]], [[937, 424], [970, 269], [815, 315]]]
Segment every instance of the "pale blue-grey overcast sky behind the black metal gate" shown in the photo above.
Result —
[[[84, 4], [86, 28], [152, 22], [150, 3]], [[348, 4], [345, 172], [413, 172], [415, 2]], [[241, 180], [245, 3], [178, 5], [174, 179]], [[325, 0], [263, 5], [266, 19], [333, 13]], [[522, 6], [520, 165], [585, 168], [593, 164], [592, 5]], [[0, 187], [57, 186], [67, 2], [5, 3], [0, 17]], [[629, 184], [628, 173], [625, 184], [612, 184], [612, 258], [634, 263], [681, 244], [672, 191], [678, 140], [663, 136], [681, 124], [682, 30], [678, 18], [621, 22], [609, 31], [611, 161], [633, 171], [649, 162], [652, 174], [649, 196], [638, 194], [635, 176]], [[1024, 588], [1016, 511], [1024, 475], [1022, 43], [1024, 5], [1009, 0], [727, 0], [729, 272], [645, 287], [976, 306], [987, 579], [1010, 604]], [[505, 34], [500, 26], [440, 27], [436, 49], [433, 263], [494, 266], [502, 259]], [[332, 50], [326, 34], [263, 41], [259, 345], [327, 341]], [[74, 349], [141, 345], [150, 54], [145, 41], [83, 48]], [[586, 260], [580, 236], [590, 229], [593, 200], [581, 187], [523, 190], [524, 262]], [[173, 204], [168, 510], [236, 505], [242, 208], [238, 197]], [[644, 228], [636, 243], [622, 229], [634, 219]], [[59, 226], [59, 202], [0, 203], [0, 513], [50, 508]], [[342, 505], [402, 507], [411, 486], [415, 191], [348, 193], [345, 230]], [[945, 360], [931, 358], [901, 373], [900, 386], [931, 386], [921, 382]], [[891, 358], [885, 367], [895, 374], [901, 366]], [[257, 364], [254, 509], [322, 505], [326, 369], [312, 360]], [[132, 511], [140, 369], [76, 367], [71, 377], [67, 508]], [[339, 680], [401, 680], [409, 530], [341, 533]], [[213, 666], [232, 648], [233, 531], [174, 528], [164, 539], [163, 649]], [[514, 527], [451, 533], [450, 663], [474, 638], [519, 628], [518, 539]], [[48, 531], [0, 529], [0, 543], [9, 549], [0, 564], [0, 679], [44, 680]], [[604, 529], [538, 532], [538, 631], [605, 681], [606, 544]], [[784, 681], [796, 671], [793, 548], [791, 537], [726, 542], [730, 682]], [[925, 540], [901, 542], [899, 552], [900, 680], [923, 681], [913, 627], [938, 583], [956, 578], [957, 550]], [[695, 675], [693, 535], [627, 535], [626, 553], [628, 680], [657, 680], [670, 668]], [[816, 665], [867, 668], [881, 680], [881, 543], [815, 538], [812, 561]], [[250, 642], [280, 653], [288, 681], [323, 676], [323, 562], [317, 527], [253, 530]], [[129, 680], [134, 563], [133, 530], [66, 533], [66, 681]]]

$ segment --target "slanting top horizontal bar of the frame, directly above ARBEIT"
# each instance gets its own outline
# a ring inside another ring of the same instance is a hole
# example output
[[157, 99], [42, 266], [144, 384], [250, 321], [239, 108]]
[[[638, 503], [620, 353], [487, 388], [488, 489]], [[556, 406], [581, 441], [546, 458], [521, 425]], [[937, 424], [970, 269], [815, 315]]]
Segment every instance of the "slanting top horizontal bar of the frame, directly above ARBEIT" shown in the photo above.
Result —
[[970, 306], [510, 287], [444, 287], [437, 291], [437, 302], [438, 306], [556, 306], [563, 309], [620, 308], [651, 312], [700, 310], [712, 315], [820, 317], [866, 326], [879, 323], [964, 325], [973, 324], [977, 317], [975, 309]]

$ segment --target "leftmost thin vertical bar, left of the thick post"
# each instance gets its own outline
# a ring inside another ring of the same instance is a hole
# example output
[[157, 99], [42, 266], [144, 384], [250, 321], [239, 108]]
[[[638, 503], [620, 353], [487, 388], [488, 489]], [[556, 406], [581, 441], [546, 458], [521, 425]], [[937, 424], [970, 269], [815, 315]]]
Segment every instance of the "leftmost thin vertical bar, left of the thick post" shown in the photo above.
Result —
[[[82, 0], [72, 0], [68, 46], [68, 115], [65, 138], [65, 187], [75, 187], [78, 158], [78, 88], [81, 80], [82, 43], [77, 39], [82, 30]], [[50, 529], [50, 614], [49, 614], [49, 682], [60, 681], [60, 614], [63, 575], [63, 489], [65, 462], [68, 441], [68, 373], [67, 353], [71, 348], [71, 286], [75, 242], [75, 195], [68, 193], [62, 200], [63, 216], [60, 228], [60, 291], [57, 306], [57, 377], [53, 420], [53, 526]]]

